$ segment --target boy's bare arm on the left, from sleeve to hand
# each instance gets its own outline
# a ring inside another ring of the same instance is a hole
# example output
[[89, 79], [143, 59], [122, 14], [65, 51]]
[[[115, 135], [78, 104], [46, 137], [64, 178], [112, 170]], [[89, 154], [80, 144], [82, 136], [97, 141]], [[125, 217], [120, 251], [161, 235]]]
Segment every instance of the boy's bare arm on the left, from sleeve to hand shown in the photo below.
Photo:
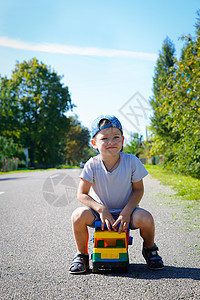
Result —
[[104, 230], [105, 223], [108, 230], [111, 230], [110, 226], [114, 224], [115, 220], [104, 205], [98, 203], [91, 196], [89, 196], [91, 185], [92, 184], [89, 181], [81, 178], [77, 193], [78, 200], [99, 213], [102, 222], [102, 230]]

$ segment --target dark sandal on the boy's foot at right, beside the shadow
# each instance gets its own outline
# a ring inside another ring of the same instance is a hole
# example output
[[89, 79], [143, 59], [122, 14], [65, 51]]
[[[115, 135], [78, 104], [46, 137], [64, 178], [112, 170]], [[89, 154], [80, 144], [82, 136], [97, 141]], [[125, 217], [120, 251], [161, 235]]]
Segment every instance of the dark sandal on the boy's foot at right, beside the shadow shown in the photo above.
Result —
[[143, 246], [142, 254], [147, 262], [147, 267], [151, 270], [162, 270], [164, 264], [162, 257], [158, 255], [158, 247], [154, 244], [151, 248], [146, 248]]

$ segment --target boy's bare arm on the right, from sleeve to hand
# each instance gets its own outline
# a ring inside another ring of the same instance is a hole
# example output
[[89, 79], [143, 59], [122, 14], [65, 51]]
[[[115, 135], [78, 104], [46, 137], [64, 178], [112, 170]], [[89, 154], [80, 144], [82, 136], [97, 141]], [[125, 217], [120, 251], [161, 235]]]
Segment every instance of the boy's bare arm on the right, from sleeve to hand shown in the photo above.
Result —
[[144, 194], [143, 180], [138, 182], [133, 182], [133, 192], [129, 198], [128, 203], [121, 211], [118, 219], [113, 224], [113, 227], [116, 228], [117, 224], [120, 223], [118, 232], [125, 231], [130, 223], [131, 214], [137, 205], [140, 203], [142, 196]]

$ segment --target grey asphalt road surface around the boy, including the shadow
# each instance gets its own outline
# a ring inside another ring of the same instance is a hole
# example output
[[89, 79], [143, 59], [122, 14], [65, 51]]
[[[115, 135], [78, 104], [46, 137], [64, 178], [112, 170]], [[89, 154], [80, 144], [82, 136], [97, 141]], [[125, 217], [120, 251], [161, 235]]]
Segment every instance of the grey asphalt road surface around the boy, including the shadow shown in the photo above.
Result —
[[[178, 208], [165, 203], [163, 195], [173, 191], [149, 175], [141, 207], [154, 215], [165, 269], [146, 268], [142, 240], [138, 231], [132, 231], [127, 274], [68, 273], [76, 252], [70, 216], [80, 206], [79, 173], [54, 170], [0, 176], [0, 299], [200, 299], [199, 229], [188, 227]], [[92, 235], [91, 229], [90, 253]]]

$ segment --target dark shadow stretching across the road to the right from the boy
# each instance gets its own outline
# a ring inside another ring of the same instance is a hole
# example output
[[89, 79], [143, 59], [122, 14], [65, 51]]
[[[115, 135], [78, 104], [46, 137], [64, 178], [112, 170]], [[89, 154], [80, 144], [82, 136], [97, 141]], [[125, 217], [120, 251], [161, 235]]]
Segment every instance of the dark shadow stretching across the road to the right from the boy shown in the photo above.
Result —
[[200, 269], [165, 266], [163, 270], [153, 271], [147, 269], [146, 264], [130, 264], [128, 273], [107, 273], [104, 275], [135, 279], [191, 278], [194, 280], [200, 280]]

